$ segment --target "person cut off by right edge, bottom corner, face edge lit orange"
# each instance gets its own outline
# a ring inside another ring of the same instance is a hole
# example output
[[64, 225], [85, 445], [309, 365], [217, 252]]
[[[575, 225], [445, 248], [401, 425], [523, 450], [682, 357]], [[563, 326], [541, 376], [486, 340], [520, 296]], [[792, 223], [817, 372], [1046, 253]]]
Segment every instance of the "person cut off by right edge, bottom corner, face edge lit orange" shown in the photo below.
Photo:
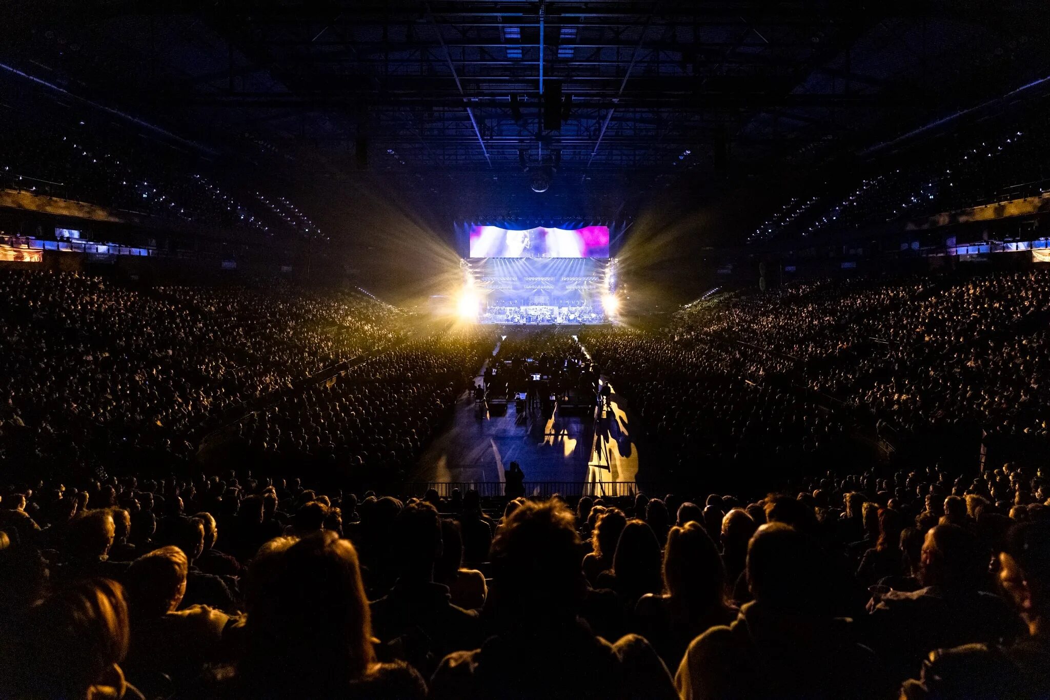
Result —
[[972, 643], [930, 653], [907, 700], [1035, 700], [1050, 697], [1050, 524], [1014, 526], [999, 554], [1000, 580], [1027, 627], [1015, 643]]

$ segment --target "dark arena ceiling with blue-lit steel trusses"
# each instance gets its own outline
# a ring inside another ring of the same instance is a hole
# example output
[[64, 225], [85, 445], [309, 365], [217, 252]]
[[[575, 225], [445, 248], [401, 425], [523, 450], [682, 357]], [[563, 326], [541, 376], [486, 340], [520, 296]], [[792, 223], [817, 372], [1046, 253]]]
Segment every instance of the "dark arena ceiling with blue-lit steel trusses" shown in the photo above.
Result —
[[18, 0], [0, 62], [297, 176], [483, 200], [546, 164], [552, 193], [616, 210], [627, 191], [807, 168], [1044, 78], [1047, 4]]

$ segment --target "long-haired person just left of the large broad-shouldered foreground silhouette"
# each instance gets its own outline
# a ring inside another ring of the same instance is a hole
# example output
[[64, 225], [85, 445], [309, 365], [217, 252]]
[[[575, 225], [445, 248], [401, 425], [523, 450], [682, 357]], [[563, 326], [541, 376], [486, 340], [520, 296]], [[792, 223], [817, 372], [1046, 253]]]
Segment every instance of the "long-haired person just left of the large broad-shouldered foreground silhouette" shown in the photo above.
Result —
[[729, 624], [737, 613], [726, 602], [726, 571], [718, 549], [699, 523], [668, 533], [664, 591], [642, 596], [635, 618], [638, 632], [667, 667], [677, 669], [689, 642], [709, 628]]

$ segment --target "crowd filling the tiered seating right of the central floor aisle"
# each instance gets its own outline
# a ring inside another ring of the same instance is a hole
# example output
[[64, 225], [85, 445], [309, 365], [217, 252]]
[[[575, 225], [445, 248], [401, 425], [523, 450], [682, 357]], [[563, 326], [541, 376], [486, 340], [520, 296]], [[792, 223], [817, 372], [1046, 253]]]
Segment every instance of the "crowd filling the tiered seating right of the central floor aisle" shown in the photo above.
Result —
[[1027, 271], [724, 293], [659, 332], [580, 337], [673, 462], [782, 468], [841, 460], [858, 422], [1045, 442], [1048, 321], [1050, 273]]

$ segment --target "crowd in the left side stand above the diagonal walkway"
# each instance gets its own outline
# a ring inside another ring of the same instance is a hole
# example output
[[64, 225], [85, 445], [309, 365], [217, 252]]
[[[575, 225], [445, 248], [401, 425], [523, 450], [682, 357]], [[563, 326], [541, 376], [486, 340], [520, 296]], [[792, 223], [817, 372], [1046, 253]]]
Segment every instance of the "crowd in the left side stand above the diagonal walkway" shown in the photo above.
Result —
[[0, 298], [0, 459], [44, 472], [185, 462], [230, 411], [404, 335], [356, 292], [3, 271]]

